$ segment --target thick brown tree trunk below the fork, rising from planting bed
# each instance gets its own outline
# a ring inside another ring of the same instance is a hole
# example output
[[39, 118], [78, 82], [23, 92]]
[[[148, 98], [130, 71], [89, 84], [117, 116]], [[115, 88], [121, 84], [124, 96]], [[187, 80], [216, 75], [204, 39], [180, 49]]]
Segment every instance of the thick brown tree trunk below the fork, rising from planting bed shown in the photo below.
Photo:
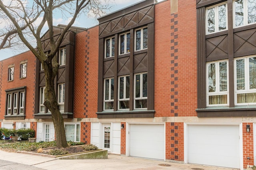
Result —
[[[66, 141], [66, 134], [64, 128], [64, 120], [60, 113], [59, 104], [56, 98], [56, 92], [54, 88], [54, 78], [56, 74], [53, 72], [52, 63], [44, 62], [44, 73], [46, 79], [45, 86], [45, 101], [44, 105], [48, 107], [48, 109], [52, 113], [52, 120], [54, 123], [55, 135], [56, 135], [56, 143], [58, 148], [66, 148], [68, 147]], [[58, 69], [57, 69], [58, 70]]]

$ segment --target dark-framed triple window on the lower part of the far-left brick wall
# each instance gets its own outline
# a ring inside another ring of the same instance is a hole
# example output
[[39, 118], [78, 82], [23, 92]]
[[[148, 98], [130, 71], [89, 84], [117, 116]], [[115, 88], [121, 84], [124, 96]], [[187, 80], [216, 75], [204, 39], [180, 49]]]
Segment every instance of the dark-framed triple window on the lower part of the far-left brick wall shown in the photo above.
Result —
[[6, 115], [25, 114], [25, 89], [6, 90]]

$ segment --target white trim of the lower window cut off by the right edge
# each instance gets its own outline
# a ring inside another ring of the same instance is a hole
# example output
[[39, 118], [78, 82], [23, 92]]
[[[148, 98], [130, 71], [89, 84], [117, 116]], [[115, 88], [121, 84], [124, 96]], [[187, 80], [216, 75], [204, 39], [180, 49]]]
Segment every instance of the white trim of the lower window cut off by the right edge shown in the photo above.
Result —
[[[250, 68], [248, 67], [249, 66], [249, 58], [251, 57], [256, 57], [255, 55], [250, 55], [250, 56], [247, 56], [247, 57], [239, 57], [239, 58], [236, 58], [234, 59], [234, 97], [235, 97], [235, 105], [256, 105], [256, 102], [255, 103], [237, 103], [237, 94], [244, 94], [244, 93], [256, 93], [256, 89], [250, 89], [250, 83], [249, 83], [249, 80], [250, 80]], [[236, 61], [237, 60], [240, 60], [240, 59], [244, 59], [244, 77], [245, 77], [245, 89], [244, 90], [237, 90], [237, 76], [236, 76]]]

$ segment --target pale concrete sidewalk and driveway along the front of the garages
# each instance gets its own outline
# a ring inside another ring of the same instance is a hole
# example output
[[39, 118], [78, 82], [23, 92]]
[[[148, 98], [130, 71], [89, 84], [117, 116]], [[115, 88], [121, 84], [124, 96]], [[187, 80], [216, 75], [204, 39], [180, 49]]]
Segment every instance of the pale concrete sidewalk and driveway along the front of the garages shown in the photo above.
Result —
[[[0, 160], [26, 164], [46, 170], [237, 170], [196, 164], [170, 163], [113, 154], [109, 154], [108, 159], [60, 160], [0, 150]], [[161, 166], [160, 164], [166, 166]]]

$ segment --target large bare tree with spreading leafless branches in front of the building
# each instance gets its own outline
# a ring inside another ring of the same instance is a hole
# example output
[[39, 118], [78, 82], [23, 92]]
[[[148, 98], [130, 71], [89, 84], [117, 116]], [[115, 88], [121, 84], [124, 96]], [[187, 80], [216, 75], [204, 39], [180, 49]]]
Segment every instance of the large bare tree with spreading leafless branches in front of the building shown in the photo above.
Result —
[[[67, 31], [70, 29], [78, 15], [92, 13], [102, 14], [105, 9], [109, 8], [109, 0], [9, 0], [0, 1], [0, 15], [4, 14], [6, 20], [10, 20], [10, 25], [5, 37], [5, 43], [2, 41], [0, 47], [5, 48], [8, 42], [14, 38], [19, 39], [32, 51], [36, 58], [42, 63], [45, 72], [46, 86], [45, 86], [45, 100], [44, 105], [52, 113], [52, 120], [54, 123], [57, 147], [68, 147], [66, 142], [66, 135], [64, 129], [64, 120], [60, 113], [59, 104], [54, 91], [54, 78], [58, 72], [59, 64], [57, 62], [56, 53], [60, 48]], [[62, 31], [60, 37], [54, 40], [53, 33], [53, 12], [62, 12], [66, 16], [71, 16], [70, 22]], [[40, 20], [39, 25], [35, 25], [35, 21]], [[42, 28], [47, 24], [49, 28], [50, 37], [50, 53], [47, 55], [42, 47], [40, 35]], [[35, 49], [26, 36], [32, 36], [36, 39]], [[1, 48], [0, 48], [1, 49]]]

